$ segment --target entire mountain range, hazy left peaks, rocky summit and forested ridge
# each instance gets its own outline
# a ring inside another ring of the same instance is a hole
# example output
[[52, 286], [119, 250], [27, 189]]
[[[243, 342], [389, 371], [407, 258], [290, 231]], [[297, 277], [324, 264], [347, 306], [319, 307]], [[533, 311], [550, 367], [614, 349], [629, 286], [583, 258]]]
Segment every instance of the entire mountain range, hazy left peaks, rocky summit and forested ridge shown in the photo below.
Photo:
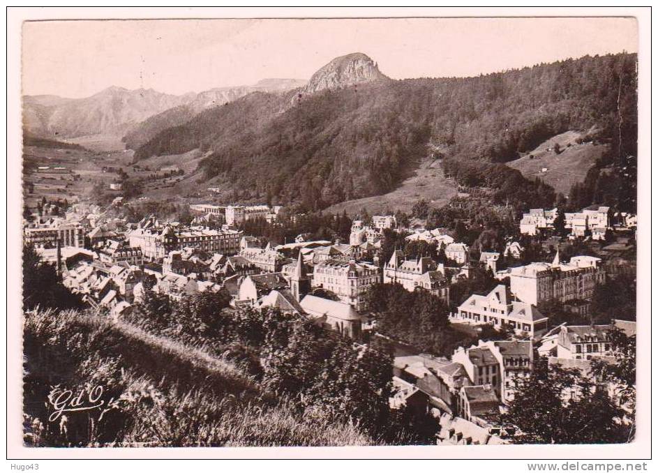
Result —
[[24, 117], [34, 135], [123, 133], [135, 160], [200, 149], [207, 156], [195, 182], [224, 186], [235, 199], [317, 210], [394, 190], [428, 158], [444, 161], [458, 183], [486, 186], [477, 163], [516, 160], [569, 130], [597, 130], [590, 139], [636, 156], [636, 92], [636, 54], [391, 80], [354, 53], [307, 83], [268, 80], [185, 96], [111, 88], [77, 100], [26, 97]]

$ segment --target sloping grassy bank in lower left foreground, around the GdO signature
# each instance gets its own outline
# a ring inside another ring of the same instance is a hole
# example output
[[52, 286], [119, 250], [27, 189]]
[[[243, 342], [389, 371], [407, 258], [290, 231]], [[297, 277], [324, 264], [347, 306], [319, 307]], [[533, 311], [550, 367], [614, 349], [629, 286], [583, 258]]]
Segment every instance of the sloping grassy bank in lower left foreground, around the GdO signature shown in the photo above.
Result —
[[[25, 440], [34, 446], [375, 444], [357, 426], [306, 416], [230, 360], [87, 312], [34, 310], [24, 324]], [[103, 410], [49, 422], [53, 386], [102, 385]], [[111, 396], [111, 398], [110, 398]]]

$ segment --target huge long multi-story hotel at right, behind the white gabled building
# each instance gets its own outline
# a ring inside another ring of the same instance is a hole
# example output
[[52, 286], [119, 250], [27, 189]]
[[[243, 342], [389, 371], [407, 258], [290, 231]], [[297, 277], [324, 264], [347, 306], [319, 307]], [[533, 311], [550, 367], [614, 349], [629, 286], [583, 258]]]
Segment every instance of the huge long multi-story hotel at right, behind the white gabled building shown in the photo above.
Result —
[[553, 263], [530, 263], [509, 271], [511, 292], [519, 300], [537, 305], [557, 299], [564, 303], [574, 299], [591, 299], [597, 285], [605, 283], [601, 259], [574, 256], [561, 263], [559, 252]]

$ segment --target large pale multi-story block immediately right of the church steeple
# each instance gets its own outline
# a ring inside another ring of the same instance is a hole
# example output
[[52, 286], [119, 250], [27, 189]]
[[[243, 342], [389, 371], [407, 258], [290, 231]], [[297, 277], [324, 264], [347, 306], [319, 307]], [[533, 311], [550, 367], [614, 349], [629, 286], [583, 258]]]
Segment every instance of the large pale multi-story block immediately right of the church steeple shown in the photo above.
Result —
[[313, 287], [334, 292], [356, 310], [364, 310], [366, 292], [380, 280], [380, 269], [364, 262], [327, 260], [313, 268]]

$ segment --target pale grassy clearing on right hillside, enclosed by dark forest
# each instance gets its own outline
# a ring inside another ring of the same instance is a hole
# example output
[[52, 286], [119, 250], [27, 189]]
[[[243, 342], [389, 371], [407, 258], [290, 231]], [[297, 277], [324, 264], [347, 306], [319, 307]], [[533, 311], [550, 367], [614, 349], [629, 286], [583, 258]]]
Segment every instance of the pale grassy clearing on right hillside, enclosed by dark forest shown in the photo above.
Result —
[[[530, 153], [525, 154], [525, 156], [506, 164], [521, 171], [528, 179], [539, 177], [542, 181], [553, 186], [555, 192], [567, 195], [574, 183], [585, 180], [585, 175], [590, 167], [606, 150], [605, 144], [592, 144], [591, 142], [577, 144], [576, 139], [580, 136], [581, 133], [577, 131], [567, 131], [555, 135], [533, 151], [530, 151]], [[553, 151], [555, 143], [558, 143], [562, 148], [560, 154], [555, 154], [555, 151]], [[571, 144], [571, 146], [567, 147], [568, 144]], [[549, 151], [546, 151], [547, 149]], [[531, 159], [530, 155], [534, 158]], [[548, 171], [541, 172], [544, 167]]]

